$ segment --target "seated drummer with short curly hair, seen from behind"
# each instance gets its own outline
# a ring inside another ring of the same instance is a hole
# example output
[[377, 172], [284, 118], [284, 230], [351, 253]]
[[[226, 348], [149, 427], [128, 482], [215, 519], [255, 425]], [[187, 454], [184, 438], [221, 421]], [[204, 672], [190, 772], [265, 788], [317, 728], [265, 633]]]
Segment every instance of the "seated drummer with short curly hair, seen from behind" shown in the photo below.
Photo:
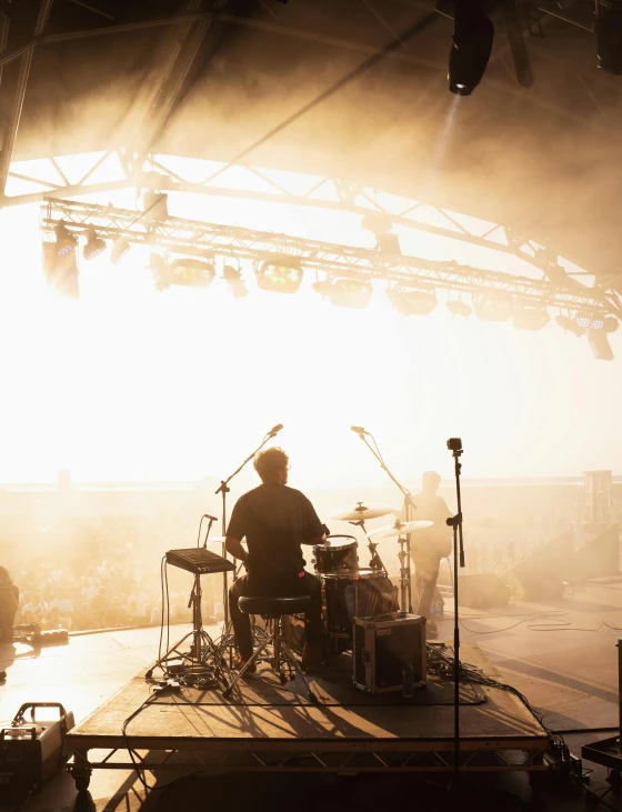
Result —
[[[309, 595], [302, 665], [313, 668], [323, 660], [322, 591], [320, 579], [304, 571], [301, 544], [325, 543], [324, 527], [307, 497], [288, 488], [289, 459], [282, 449], [261, 451], [254, 470], [262, 484], [240, 497], [227, 529], [227, 551], [248, 570], [248, 575], [229, 590], [229, 611], [240, 651], [235, 666], [241, 669], [252, 654], [250, 619], [240, 611], [239, 598]], [[244, 538], [248, 552], [241, 544]]]

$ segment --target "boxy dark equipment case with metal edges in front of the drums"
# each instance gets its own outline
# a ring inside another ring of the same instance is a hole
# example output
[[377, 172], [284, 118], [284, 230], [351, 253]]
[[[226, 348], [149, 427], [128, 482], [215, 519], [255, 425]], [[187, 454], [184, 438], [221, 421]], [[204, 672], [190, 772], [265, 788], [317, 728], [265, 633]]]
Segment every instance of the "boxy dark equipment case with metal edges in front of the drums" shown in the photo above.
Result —
[[425, 685], [425, 618], [389, 612], [353, 622], [352, 682], [368, 693]]

